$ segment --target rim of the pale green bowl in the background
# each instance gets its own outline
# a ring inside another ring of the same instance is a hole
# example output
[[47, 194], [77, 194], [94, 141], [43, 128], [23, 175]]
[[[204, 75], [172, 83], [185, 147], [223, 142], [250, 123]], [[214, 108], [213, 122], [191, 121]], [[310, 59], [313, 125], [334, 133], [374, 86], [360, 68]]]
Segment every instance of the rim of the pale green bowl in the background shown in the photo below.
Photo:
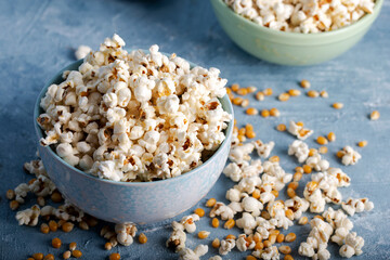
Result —
[[271, 34], [273, 36], [291, 37], [291, 38], [296, 38], [298, 40], [309, 40], [309, 39], [310, 40], [313, 40], [313, 39], [321, 40], [326, 37], [339, 36], [347, 31], [353, 30], [354, 28], [359, 28], [361, 26], [361, 24], [363, 24], [363, 23], [369, 23], [368, 20], [375, 18], [375, 16], [378, 15], [385, 0], [376, 0], [375, 5], [374, 5], [374, 12], [370, 14], [366, 13], [365, 15], [363, 15], [363, 17], [361, 17], [356, 22], [352, 23], [351, 25], [348, 25], [348, 26], [344, 26], [344, 27], [341, 27], [339, 29], [335, 29], [332, 31], [322, 31], [322, 32], [315, 32], [315, 34], [314, 32], [313, 34], [302, 34], [302, 32], [294, 32], [294, 31], [282, 31], [282, 30], [276, 30], [276, 29], [271, 29], [269, 27], [260, 26], [260, 25], [256, 24], [255, 22], [252, 22], [248, 18], [245, 18], [242, 15], [234, 12], [226, 3], [223, 2], [223, 0], [211, 0], [211, 1], [220, 4], [221, 8], [223, 6], [224, 9], [227, 9], [229, 12], [231, 12], [236, 18], [238, 18], [243, 23], [245, 23], [253, 28], [259, 29], [259, 31]]

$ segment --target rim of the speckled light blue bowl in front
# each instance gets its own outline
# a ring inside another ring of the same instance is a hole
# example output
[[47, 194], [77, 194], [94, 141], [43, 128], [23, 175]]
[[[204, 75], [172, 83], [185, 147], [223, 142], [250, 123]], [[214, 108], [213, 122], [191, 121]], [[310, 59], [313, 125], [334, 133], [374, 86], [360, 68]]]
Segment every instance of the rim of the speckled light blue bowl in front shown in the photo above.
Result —
[[[130, 50], [132, 51], [132, 50]], [[129, 52], [130, 52], [129, 51]], [[142, 50], [144, 52], [147, 52], [146, 50]], [[167, 54], [161, 52], [162, 54]], [[74, 67], [75, 65], [79, 66], [81, 63], [83, 62], [83, 58], [78, 60], [76, 62], [70, 63], [69, 65], [67, 65], [66, 67], [60, 69], [50, 80], [47, 81], [47, 83], [44, 84], [44, 87], [41, 89], [41, 91], [38, 94], [38, 98], [36, 100], [36, 103], [34, 105], [34, 126], [35, 126], [35, 130], [36, 130], [36, 134], [38, 136], [38, 139], [40, 140], [41, 138], [43, 138], [43, 130], [40, 128], [40, 126], [37, 122], [37, 118], [40, 115], [40, 101], [41, 99], [44, 96], [48, 88], [53, 84], [56, 79], [58, 79], [58, 77], [62, 77], [63, 72], [65, 70], [69, 70], [72, 67]], [[190, 61], [187, 61], [190, 63], [191, 68], [198, 66]], [[69, 164], [67, 164], [63, 158], [61, 158], [51, 147], [50, 145], [48, 146], [41, 146], [41, 148], [47, 150], [47, 152], [57, 161], [61, 162], [62, 165], [64, 165], [65, 167], [68, 167], [70, 170], [73, 170], [74, 172], [76, 172], [77, 174], [81, 174], [82, 177], [87, 177], [87, 178], [91, 178], [98, 182], [103, 182], [106, 184], [114, 184], [114, 185], [122, 185], [122, 186], [147, 186], [147, 185], [156, 185], [156, 184], [166, 184], [168, 182], [173, 182], [173, 181], [180, 181], [183, 178], [190, 178], [192, 174], [195, 174], [196, 172], [204, 170], [209, 164], [210, 161], [214, 160], [217, 158], [217, 156], [219, 154], [221, 154], [221, 152], [226, 148], [226, 146], [230, 146], [230, 140], [231, 136], [233, 134], [233, 122], [234, 122], [234, 110], [233, 110], [233, 105], [227, 96], [227, 94], [225, 94], [224, 96], [222, 96], [221, 99], [219, 99], [221, 101], [223, 101], [225, 103], [225, 108], [224, 110], [226, 110], [229, 114], [232, 115], [232, 119], [227, 122], [227, 127], [225, 129], [225, 139], [222, 141], [222, 143], [219, 145], [219, 147], [214, 151], [214, 153], [211, 155], [210, 158], [208, 158], [204, 164], [202, 164], [200, 166], [185, 172], [182, 173], [178, 177], [174, 178], [169, 178], [169, 179], [162, 179], [162, 180], [158, 180], [158, 181], [150, 181], [150, 182], [121, 182], [121, 181], [113, 181], [113, 180], [108, 180], [108, 179], [103, 179], [103, 178], [99, 178], [95, 176], [92, 176], [90, 173], [87, 173], [80, 169], [77, 169], [74, 166], [70, 166]], [[226, 142], [229, 141], [229, 142]], [[38, 142], [39, 143], [39, 142]]]

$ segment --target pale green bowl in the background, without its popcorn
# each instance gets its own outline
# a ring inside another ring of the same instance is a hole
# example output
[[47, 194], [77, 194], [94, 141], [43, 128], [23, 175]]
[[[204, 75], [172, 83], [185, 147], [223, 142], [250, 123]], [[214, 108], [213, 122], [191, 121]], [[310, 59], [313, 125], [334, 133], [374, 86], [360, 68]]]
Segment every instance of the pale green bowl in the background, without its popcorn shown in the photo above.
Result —
[[244, 18], [223, 0], [211, 0], [217, 18], [229, 37], [246, 52], [281, 65], [312, 65], [329, 61], [353, 47], [378, 16], [384, 0], [376, 0], [373, 14], [343, 28], [300, 34], [270, 29]]

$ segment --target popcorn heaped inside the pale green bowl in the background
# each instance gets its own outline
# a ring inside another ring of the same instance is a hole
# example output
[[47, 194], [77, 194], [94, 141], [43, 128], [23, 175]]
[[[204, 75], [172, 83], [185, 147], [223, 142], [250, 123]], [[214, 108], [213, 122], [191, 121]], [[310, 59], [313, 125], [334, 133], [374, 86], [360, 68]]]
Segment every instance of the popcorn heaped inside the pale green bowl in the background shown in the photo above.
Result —
[[374, 0], [224, 0], [233, 11], [275, 30], [302, 34], [342, 28], [374, 11]]

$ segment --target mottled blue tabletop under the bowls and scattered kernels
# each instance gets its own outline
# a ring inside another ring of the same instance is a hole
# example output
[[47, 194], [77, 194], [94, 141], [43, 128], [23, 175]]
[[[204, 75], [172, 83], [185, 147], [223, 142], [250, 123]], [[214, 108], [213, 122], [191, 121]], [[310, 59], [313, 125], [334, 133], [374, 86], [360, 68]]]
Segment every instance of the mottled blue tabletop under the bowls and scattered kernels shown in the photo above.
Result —
[[[30, 177], [22, 165], [35, 158], [37, 140], [32, 127], [32, 107], [36, 98], [55, 72], [75, 60], [74, 50], [79, 44], [99, 47], [105, 37], [119, 34], [129, 49], [147, 49], [158, 43], [164, 52], [176, 52], [205, 67], [221, 69], [231, 83], [273, 88], [281, 93], [298, 88], [297, 82], [307, 78], [312, 89], [326, 90], [328, 99], [309, 99], [304, 95], [285, 103], [275, 96], [251, 104], [259, 109], [278, 107], [280, 118], [249, 117], [243, 108], [236, 108], [239, 125], [252, 122], [257, 135], [263, 141], [275, 141], [275, 155], [287, 172], [294, 172], [297, 161], [287, 156], [288, 144], [294, 138], [277, 132], [277, 123], [303, 120], [314, 130], [308, 144], [318, 145], [314, 136], [334, 131], [337, 141], [328, 145], [325, 155], [332, 166], [342, 168], [352, 178], [352, 185], [341, 188], [343, 197], [365, 197], [375, 203], [370, 212], [352, 218], [354, 231], [365, 238], [364, 255], [359, 259], [389, 259], [390, 200], [388, 170], [390, 144], [390, 4], [385, 1], [381, 14], [368, 34], [355, 47], [340, 57], [310, 67], [285, 67], [259, 61], [237, 48], [218, 24], [209, 1], [50, 1], [13, 0], [0, 1], [0, 259], [26, 259], [34, 252], [52, 252], [56, 257], [65, 249], [53, 249], [51, 238], [58, 236], [65, 244], [77, 242], [83, 259], [106, 259], [109, 252], [103, 249], [104, 239], [98, 229], [57, 232], [44, 235], [39, 227], [18, 226], [15, 212], [8, 207], [4, 196], [8, 188], [26, 182]], [[344, 108], [330, 107], [342, 102]], [[368, 114], [378, 109], [381, 117], [370, 121]], [[256, 119], [255, 119], [256, 118]], [[253, 120], [255, 119], [255, 120]], [[358, 148], [355, 143], [367, 140], [368, 145]], [[352, 145], [362, 154], [355, 166], [344, 167], [335, 153], [344, 145]], [[306, 176], [306, 180], [310, 177]], [[224, 200], [226, 188], [233, 183], [223, 174], [207, 195]], [[302, 191], [299, 190], [299, 194]], [[282, 194], [282, 197], [285, 196]], [[206, 198], [197, 206], [203, 206]], [[30, 206], [24, 205], [22, 208]], [[176, 219], [180, 219], [177, 217]], [[204, 218], [198, 230], [211, 230], [209, 219]], [[174, 259], [177, 255], [165, 247], [171, 232], [169, 221], [141, 230], [147, 235], [146, 245], [134, 243], [130, 247], [116, 247], [122, 259]], [[298, 239], [291, 244], [294, 257], [309, 233], [309, 225], [294, 226]], [[211, 230], [206, 240], [195, 234], [187, 235], [187, 247], [210, 242], [238, 230]], [[340, 258], [338, 246], [330, 244], [333, 258]], [[217, 250], [210, 247], [207, 257]], [[234, 250], [225, 259], [244, 259], [248, 252]]]

